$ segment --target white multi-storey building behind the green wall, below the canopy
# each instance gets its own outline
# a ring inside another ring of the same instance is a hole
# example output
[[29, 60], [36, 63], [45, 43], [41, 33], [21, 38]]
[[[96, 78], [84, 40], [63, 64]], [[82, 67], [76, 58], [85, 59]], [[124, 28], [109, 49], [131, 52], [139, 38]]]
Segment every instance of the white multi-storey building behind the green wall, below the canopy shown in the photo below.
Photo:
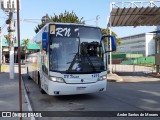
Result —
[[143, 33], [121, 38], [118, 54], [155, 54], [154, 33]]

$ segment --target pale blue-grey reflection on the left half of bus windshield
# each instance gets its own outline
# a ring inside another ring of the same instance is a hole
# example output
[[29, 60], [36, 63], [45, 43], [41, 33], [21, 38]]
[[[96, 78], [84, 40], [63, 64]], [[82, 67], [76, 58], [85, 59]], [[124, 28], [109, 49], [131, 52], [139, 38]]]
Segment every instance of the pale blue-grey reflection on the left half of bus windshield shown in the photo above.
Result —
[[78, 50], [76, 38], [54, 38], [50, 44], [50, 70], [66, 71]]

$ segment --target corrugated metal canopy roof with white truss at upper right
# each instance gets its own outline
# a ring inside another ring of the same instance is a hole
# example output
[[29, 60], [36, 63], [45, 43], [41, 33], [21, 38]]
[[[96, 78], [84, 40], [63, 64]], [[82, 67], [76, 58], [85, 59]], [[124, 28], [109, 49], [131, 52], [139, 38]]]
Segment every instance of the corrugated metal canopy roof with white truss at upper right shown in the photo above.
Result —
[[160, 25], [160, 1], [112, 3], [111, 26]]

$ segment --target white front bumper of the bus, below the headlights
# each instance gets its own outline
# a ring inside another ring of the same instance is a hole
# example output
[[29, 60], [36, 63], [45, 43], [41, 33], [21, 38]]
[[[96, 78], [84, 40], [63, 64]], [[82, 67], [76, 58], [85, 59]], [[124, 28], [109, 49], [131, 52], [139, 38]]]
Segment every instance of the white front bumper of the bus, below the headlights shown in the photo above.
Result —
[[87, 94], [94, 92], [106, 91], [107, 81], [98, 81], [96, 83], [88, 84], [66, 84], [58, 82], [49, 82], [47, 93], [49, 95], [74, 95]]

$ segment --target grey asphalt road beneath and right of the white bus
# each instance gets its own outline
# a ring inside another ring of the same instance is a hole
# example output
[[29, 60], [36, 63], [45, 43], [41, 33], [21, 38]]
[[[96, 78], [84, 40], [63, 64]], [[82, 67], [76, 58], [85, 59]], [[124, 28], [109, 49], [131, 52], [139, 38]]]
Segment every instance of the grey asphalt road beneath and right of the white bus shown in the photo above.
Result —
[[[134, 77], [134, 76], [133, 76]], [[136, 79], [140, 76], [136, 76]], [[128, 77], [132, 78], [131, 76]], [[109, 82], [108, 89], [103, 93], [72, 96], [48, 96], [39, 92], [38, 86], [23, 79], [29, 90], [29, 98], [35, 111], [160, 111], [160, 82]], [[127, 79], [125, 77], [125, 79]], [[152, 78], [151, 78], [152, 79]], [[74, 117], [54, 117], [53, 120], [74, 120]], [[158, 120], [153, 117], [83, 117], [76, 120]], [[38, 118], [38, 120], [51, 120], [51, 118]]]

